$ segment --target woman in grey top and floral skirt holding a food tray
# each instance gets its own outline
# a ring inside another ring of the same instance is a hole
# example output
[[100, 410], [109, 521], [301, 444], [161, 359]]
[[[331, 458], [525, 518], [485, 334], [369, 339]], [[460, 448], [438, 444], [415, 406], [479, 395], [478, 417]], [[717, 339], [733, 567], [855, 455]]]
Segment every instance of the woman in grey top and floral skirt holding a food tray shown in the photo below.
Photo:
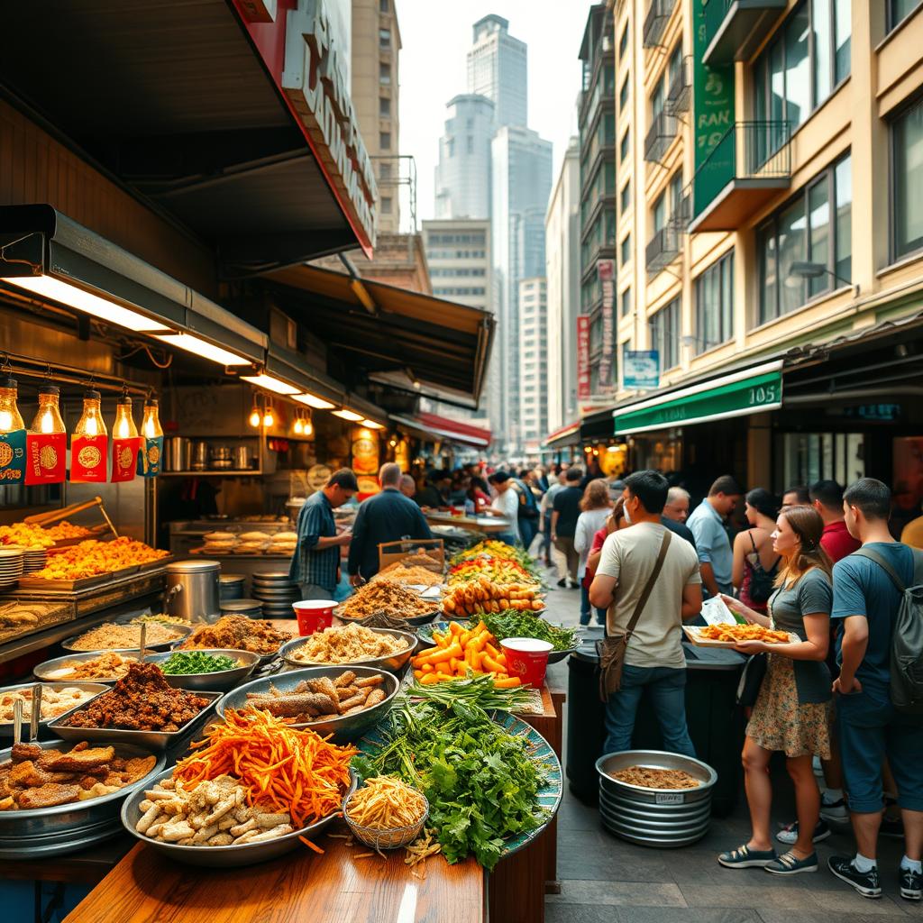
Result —
[[[833, 605], [832, 565], [821, 547], [823, 520], [811, 507], [783, 509], [775, 523], [773, 550], [783, 566], [769, 598], [768, 615], [722, 594], [737, 615], [751, 624], [791, 632], [798, 641], [767, 644], [745, 641], [740, 653], [767, 653], [762, 680], [747, 725], [742, 754], [752, 835], [749, 841], [718, 857], [728, 869], [761, 867], [775, 875], [817, 871], [814, 829], [821, 813], [821, 791], [811, 767], [814, 756], [830, 759], [828, 713], [830, 670], [824, 663], [830, 643]], [[776, 856], [770, 832], [773, 786], [769, 761], [773, 752], [785, 753], [788, 774], [795, 784], [797, 840]]]

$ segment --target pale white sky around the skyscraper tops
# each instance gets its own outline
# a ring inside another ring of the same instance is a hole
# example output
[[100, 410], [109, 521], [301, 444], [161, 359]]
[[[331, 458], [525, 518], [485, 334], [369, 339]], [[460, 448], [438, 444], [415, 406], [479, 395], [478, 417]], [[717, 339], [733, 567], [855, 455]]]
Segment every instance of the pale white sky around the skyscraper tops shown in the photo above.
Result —
[[554, 177], [577, 131], [577, 54], [590, 0], [396, 0], [401, 27], [401, 153], [413, 154], [418, 219], [433, 217], [438, 139], [453, 96], [467, 90], [472, 26], [496, 13], [529, 46], [529, 127], [554, 143]]

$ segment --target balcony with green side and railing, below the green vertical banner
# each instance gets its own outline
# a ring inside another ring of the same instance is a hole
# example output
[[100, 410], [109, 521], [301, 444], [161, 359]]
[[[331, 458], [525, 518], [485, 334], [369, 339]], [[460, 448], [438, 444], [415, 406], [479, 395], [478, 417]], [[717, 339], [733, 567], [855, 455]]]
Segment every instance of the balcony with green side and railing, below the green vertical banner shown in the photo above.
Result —
[[736, 231], [791, 185], [787, 122], [737, 122], [692, 177], [689, 234]]

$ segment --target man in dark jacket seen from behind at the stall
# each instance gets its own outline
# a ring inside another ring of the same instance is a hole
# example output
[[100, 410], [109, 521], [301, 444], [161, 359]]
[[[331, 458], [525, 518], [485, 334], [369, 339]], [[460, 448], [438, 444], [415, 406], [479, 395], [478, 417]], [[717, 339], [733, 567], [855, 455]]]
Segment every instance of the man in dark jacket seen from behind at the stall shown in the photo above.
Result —
[[349, 580], [359, 586], [378, 573], [378, 545], [402, 538], [432, 538], [423, 513], [400, 490], [401, 466], [387, 462], [378, 472], [381, 493], [359, 507], [349, 548]]

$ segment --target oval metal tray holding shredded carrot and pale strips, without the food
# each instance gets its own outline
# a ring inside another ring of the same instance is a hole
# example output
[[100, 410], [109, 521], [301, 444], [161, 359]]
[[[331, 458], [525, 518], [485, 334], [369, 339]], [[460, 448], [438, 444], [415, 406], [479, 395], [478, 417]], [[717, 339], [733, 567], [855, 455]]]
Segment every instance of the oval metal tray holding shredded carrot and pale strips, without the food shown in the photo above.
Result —
[[[300, 842], [299, 838], [302, 836], [306, 839], [315, 838], [330, 821], [340, 816], [340, 810], [335, 810], [329, 817], [325, 817], [321, 821], [303, 827], [301, 830], [286, 833], [284, 836], [269, 840], [266, 843], [245, 843], [239, 846], [179, 846], [174, 843], [162, 843], [159, 840], [150, 839], [143, 833], [138, 833], [135, 830], [135, 825], [141, 818], [138, 805], [144, 800], [145, 789], [172, 774], [172, 769], [160, 773], [156, 779], [151, 779], [148, 785], [136, 789], [131, 797], [126, 798], [125, 804], [122, 806], [122, 823], [128, 833], [131, 833], [142, 843], [149, 845], [151, 849], [155, 849], [164, 856], [169, 856], [179, 862], [188, 862], [190, 865], [207, 866], [213, 869], [234, 869], [239, 866], [254, 865], [257, 862], [266, 862], [269, 859], [284, 856], [285, 853], [296, 849]], [[351, 795], [355, 791], [356, 784], [355, 773], [350, 770], [350, 785], [343, 797]]]

